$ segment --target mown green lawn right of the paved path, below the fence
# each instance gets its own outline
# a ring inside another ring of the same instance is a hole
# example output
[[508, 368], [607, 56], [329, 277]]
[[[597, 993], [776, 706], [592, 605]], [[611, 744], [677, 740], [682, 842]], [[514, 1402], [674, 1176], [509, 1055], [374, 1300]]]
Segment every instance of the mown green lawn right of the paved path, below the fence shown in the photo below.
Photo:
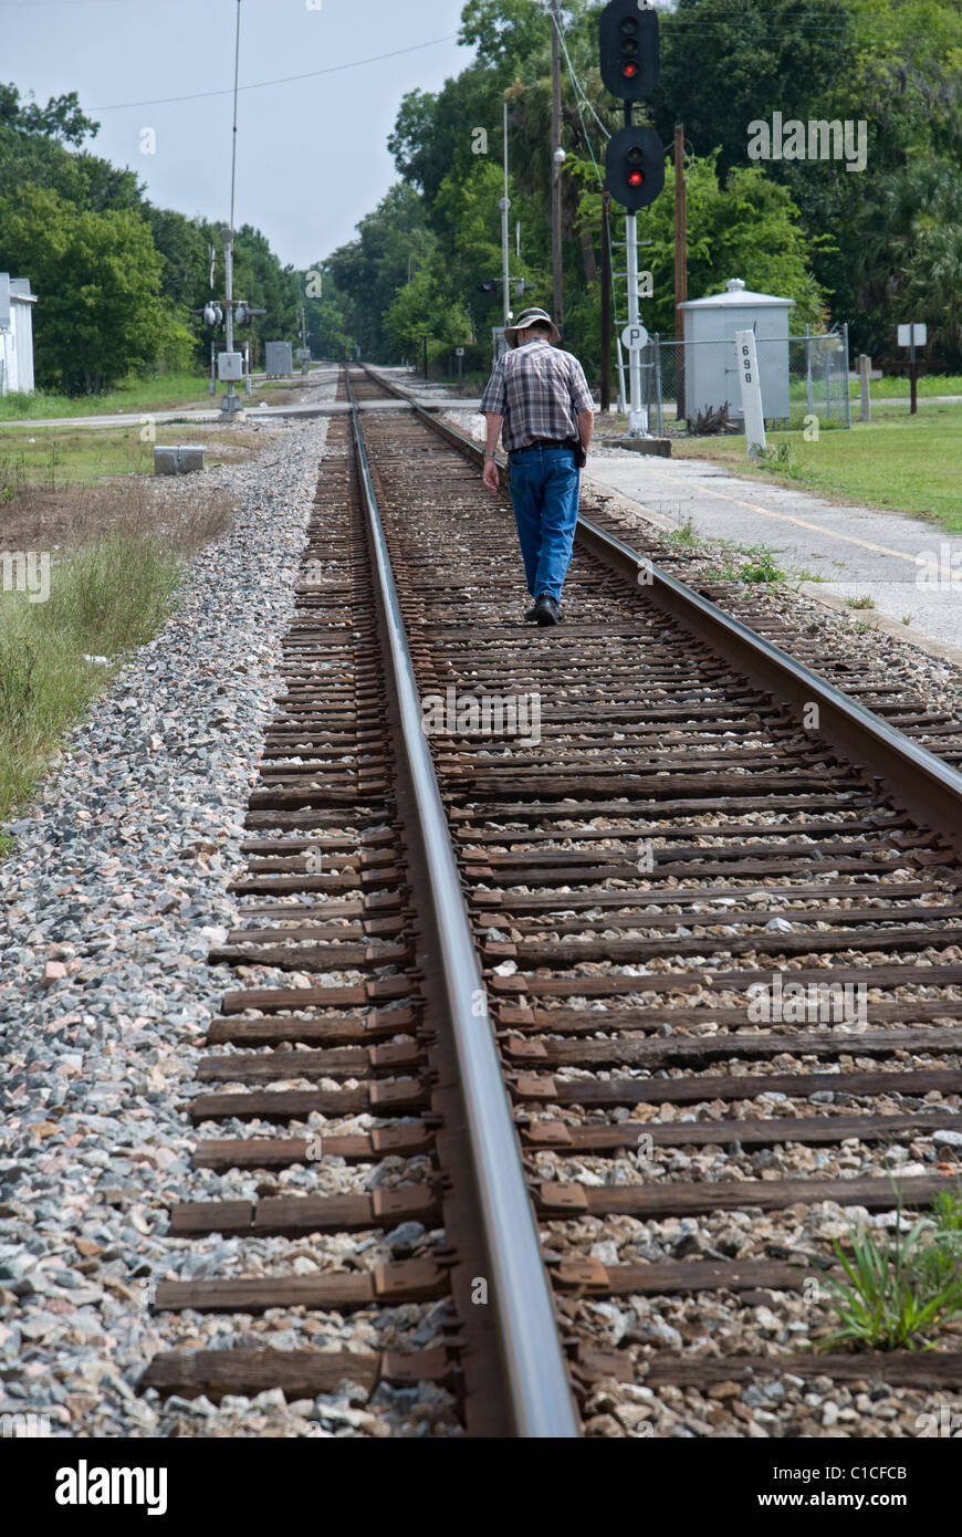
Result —
[[917, 417], [853, 423], [851, 432], [768, 433], [768, 453], [750, 461], [744, 435], [675, 440], [676, 458], [724, 464], [745, 480], [784, 478], [836, 501], [916, 513], [962, 532], [962, 406], [930, 406]]

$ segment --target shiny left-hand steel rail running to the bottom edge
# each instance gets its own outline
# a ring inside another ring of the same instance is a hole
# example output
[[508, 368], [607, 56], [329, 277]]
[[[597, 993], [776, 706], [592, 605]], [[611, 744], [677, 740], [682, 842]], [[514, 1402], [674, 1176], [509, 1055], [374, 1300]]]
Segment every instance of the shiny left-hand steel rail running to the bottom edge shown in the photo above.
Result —
[[344, 380], [383, 601], [386, 662], [401, 716], [401, 744], [430, 878], [432, 918], [440, 941], [444, 993], [455, 1037], [484, 1237], [493, 1271], [490, 1291], [512, 1417], [519, 1437], [552, 1440], [578, 1437], [579, 1420], [504, 1074], [487, 1010], [481, 1014], [476, 1011], [486, 998], [484, 981], [441, 790], [423, 730], [413, 662], [347, 369]]

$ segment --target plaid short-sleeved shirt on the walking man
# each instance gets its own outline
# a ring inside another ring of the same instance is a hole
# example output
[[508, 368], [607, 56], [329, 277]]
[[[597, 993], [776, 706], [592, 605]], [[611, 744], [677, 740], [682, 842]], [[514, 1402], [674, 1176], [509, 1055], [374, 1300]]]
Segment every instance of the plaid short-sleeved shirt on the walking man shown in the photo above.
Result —
[[481, 410], [504, 417], [501, 441], [513, 453], [536, 438], [578, 441], [578, 415], [592, 404], [578, 358], [538, 338], [498, 358]]

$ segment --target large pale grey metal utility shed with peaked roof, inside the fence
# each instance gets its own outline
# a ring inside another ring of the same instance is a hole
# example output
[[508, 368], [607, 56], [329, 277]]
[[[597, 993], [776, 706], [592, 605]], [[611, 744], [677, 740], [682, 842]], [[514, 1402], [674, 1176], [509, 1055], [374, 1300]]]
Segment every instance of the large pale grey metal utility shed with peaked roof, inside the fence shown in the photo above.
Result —
[[741, 418], [742, 392], [735, 350], [736, 330], [755, 330], [758, 373], [765, 420], [788, 417], [788, 310], [793, 298], [753, 294], [741, 278], [730, 278], [724, 294], [688, 300], [685, 312], [685, 410], [728, 401], [728, 415]]

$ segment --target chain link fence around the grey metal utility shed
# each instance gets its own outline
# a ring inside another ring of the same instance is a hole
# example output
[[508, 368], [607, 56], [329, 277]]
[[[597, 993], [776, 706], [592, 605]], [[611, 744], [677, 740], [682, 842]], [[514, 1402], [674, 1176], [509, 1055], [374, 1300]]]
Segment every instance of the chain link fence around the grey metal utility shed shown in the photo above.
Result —
[[[784, 343], [782, 343], [784, 346]], [[695, 349], [735, 349], [731, 340], [679, 341], [676, 337], [653, 335], [641, 354], [642, 406], [649, 412], [649, 430], [664, 435], [665, 423], [672, 426], [685, 415], [685, 373], [696, 372]], [[764, 367], [764, 343], [759, 346], [759, 367]], [[724, 366], [722, 366], [724, 373]], [[621, 375], [619, 375], [621, 383]], [[630, 389], [629, 357], [624, 354], [624, 386]], [[735, 393], [735, 392], [731, 392]], [[681, 397], [681, 398], [679, 398]], [[741, 397], [710, 403], [713, 409], [727, 406], [728, 417], [741, 418]], [[619, 407], [624, 409], [624, 398]], [[810, 426], [805, 418], [818, 418], [819, 429], [831, 423], [851, 427], [851, 393], [848, 389], [848, 326], [811, 335], [808, 327], [801, 337], [788, 337], [788, 417], [770, 418], [790, 429]], [[690, 423], [690, 426], [693, 426]]]

